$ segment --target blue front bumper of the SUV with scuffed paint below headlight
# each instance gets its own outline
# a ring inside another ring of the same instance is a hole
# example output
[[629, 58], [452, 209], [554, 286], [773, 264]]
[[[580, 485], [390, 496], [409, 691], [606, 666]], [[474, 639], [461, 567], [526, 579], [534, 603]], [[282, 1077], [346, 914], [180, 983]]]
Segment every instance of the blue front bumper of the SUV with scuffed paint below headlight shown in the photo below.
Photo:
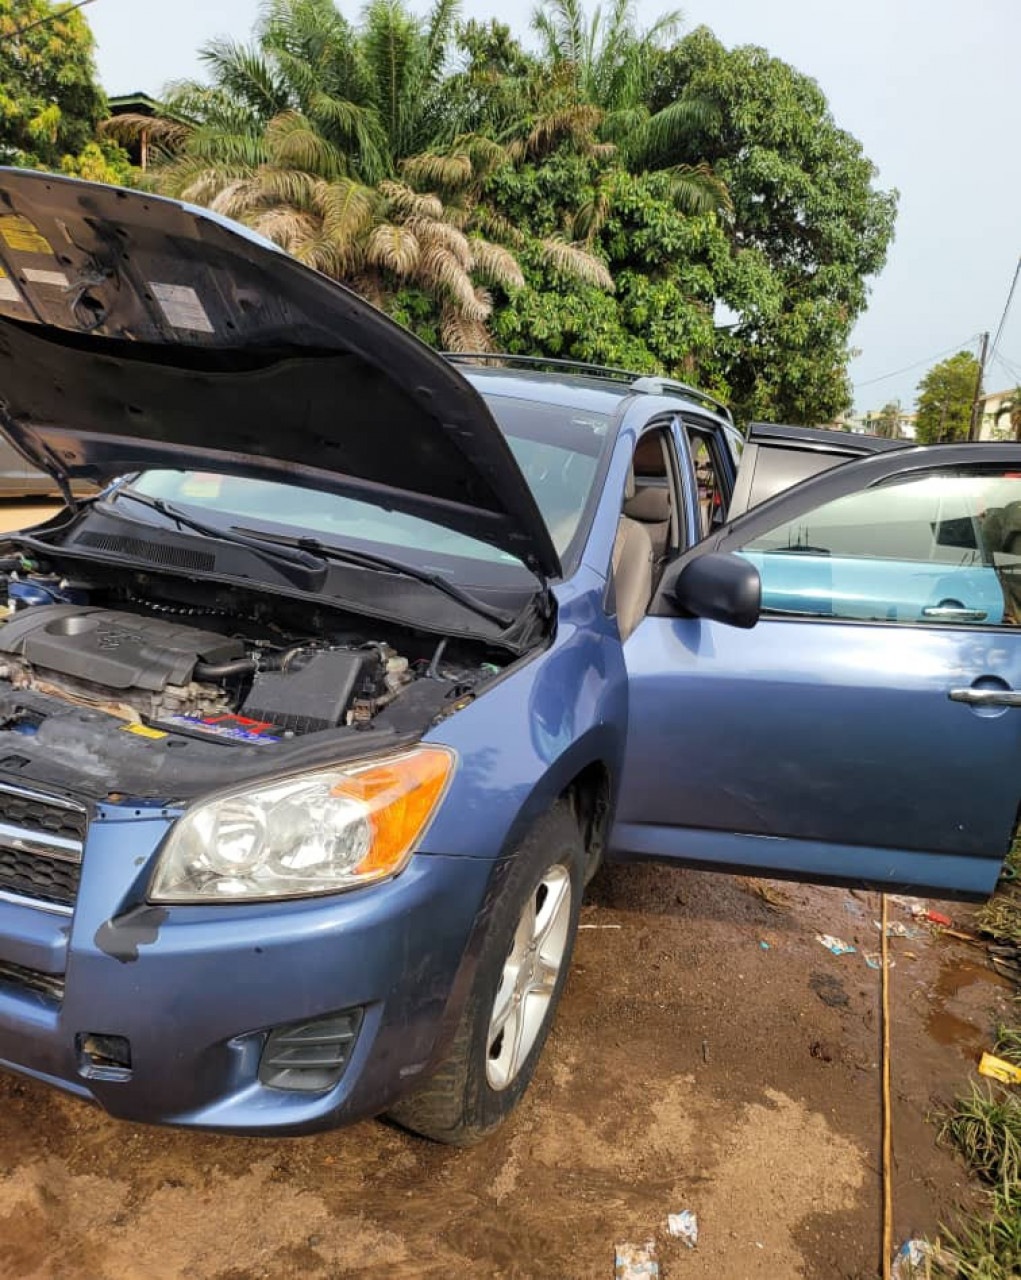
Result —
[[[93, 822], [69, 933], [67, 918], [0, 902], [0, 1066], [122, 1119], [252, 1134], [377, 1115], [427, 1074], [470, 982], [493, 863], [417, 855], [347, 895], [111, 918], [138, 901], [165, 831], [145, 813]], [[63, 969], [63, 998], [10, 980], [18, 966]], [[260, 1083], [274, 1028], [352, 1007], [363, 1016], [336, 1085]], [[90, 1036], [127, 1039], [131, 1070], [83, 1060]]]

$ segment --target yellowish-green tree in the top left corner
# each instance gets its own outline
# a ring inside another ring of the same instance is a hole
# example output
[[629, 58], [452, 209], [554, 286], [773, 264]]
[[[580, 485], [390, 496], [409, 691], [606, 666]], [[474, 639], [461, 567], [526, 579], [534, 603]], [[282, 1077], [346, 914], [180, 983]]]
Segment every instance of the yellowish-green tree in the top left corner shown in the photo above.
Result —
[[67, 8], [52, 0], [0, 0], [4, 164], [60, 169], [96, 145], [106, 99], [96, 81], [92, 32], [81, 12], [61, 13]]

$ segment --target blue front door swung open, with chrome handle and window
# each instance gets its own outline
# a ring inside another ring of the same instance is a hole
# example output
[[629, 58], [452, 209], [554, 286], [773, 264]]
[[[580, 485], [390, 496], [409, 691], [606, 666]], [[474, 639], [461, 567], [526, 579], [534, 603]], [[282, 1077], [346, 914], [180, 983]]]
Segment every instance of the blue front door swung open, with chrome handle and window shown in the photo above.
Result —
[[[683, 616], [708, 550], [751, 630]], [[621, 856], [984, 896], [1021, 799], [1021, 447], [820, 475], [667, 571], [629, 636]]]

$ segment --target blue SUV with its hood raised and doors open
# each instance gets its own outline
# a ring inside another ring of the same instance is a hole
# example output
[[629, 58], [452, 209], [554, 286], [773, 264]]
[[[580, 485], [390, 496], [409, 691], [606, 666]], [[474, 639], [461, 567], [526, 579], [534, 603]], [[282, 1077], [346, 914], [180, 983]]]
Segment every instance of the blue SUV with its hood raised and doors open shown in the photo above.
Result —
[[0, 544], [6, 1069], [467, 1144], [604, 859], [995, 882], [1018, 445], [443, 358], [214, 214], [12, 170], [0, 426], [65, 495]]

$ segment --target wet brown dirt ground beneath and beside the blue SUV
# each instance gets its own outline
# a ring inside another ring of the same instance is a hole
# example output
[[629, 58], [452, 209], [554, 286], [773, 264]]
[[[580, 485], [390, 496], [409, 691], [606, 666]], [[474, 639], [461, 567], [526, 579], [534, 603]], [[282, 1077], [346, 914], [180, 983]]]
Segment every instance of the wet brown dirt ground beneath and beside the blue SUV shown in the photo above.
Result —
[[[0, 1276], [609, 1277], [614, 1243], [646, 1239], [665, 1276], [875, 1276], [876, 915], [873, 893], [603, 872], [532, 1089], [468, 1152], [375, 1121], [288, 1140], [147, 1129], [0, 1076]], [[928, 1116], [1009, 992], [962, 943], [892, 948], [901, 1240], [974, 1194]], [[667, 1234], [682, 1208], [695, 1252]]]

